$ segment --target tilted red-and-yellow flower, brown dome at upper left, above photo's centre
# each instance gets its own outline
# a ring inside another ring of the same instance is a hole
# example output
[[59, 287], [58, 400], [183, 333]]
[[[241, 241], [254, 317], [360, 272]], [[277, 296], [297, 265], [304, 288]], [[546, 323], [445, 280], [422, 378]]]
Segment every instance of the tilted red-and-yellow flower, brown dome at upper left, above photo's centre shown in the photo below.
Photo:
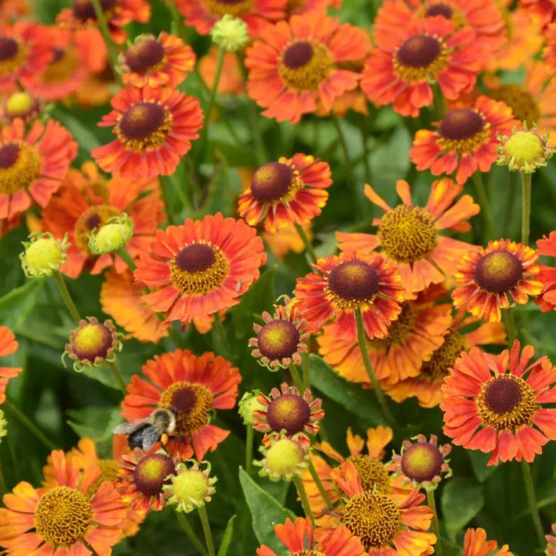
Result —
[[309, 224], [328, 200], [325, 189], [332, 185], [331, 175], [328, 163], [313, 156], [282, 156], [256, 170], [238, 199], [238, 213], [250, 226], [264, 220], [270, 232], [288, 224]]

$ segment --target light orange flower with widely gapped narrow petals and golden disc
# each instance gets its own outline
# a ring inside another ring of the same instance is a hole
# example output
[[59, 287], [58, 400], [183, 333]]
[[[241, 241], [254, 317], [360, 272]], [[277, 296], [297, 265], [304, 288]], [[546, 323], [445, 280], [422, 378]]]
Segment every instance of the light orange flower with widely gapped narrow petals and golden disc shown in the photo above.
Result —
[[[431, 284], [441, 284], [451, 277], [464, 254], [473, 245], [441, 236], [441, 230], [468, 231], [468, 218], [480, 211], [470, 195], [463, 195], [455, 202], [464, 186], [443, 178], [432, 183], [425, 207], [411, 202], [409, 183], [399, 180], [396, 191], [403, 201], [391, 208], [368, 184], [365, 195], [376, 204], [384, 215], [373, 220], [377, 234], [344, 234], [336, 232], [341, 250], [368, 254], [381, 247], [381, 254], [389, 263], [398, 267], [408, 299]], [[452, 205], [452, 203], [454, 203]]]

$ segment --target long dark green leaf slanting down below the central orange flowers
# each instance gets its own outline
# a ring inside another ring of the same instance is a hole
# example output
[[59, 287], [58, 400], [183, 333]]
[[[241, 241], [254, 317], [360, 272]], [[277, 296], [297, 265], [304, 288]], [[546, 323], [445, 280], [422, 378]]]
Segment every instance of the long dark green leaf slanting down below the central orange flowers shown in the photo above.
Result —
[[378, 407], [375, 407], [373, 392], [363, 390], [359, 384], [343, 379], [336, 371], [322, 361], [318, 355], [309, 356], [311, 365], [311, 384], [340, 404], [350, 413], [365, 420], [369, 425], [386, 424]]

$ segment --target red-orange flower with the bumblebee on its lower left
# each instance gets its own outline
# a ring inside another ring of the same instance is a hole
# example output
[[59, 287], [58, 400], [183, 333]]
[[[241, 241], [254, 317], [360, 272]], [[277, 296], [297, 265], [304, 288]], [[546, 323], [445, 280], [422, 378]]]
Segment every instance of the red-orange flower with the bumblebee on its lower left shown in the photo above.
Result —
[[127, 385], [122, 416], [127, 420], [148, 417], [157, 407], [173, 408], [176, 428], [165, 448], [189, 459], [195, 452], [201, 461], [227, 439], [229, 431], [211, 425], [213, 409], [232, 409], [238, 397], [241, 375], [236, 367], [211, 352], [195, 357], [189, 350], [156, 355], [145, 363], [142, 373]]

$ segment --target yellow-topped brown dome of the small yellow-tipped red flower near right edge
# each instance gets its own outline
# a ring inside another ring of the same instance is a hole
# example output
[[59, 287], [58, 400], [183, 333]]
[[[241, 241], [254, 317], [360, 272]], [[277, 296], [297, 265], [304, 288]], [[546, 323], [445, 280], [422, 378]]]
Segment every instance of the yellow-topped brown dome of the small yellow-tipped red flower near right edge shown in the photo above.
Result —
[[475, 268], [475, 282], [491, 293], [509, 292], [523, 277], [523, 266], [518, 257], [508, 251], [494, 251], [484, 255]]

